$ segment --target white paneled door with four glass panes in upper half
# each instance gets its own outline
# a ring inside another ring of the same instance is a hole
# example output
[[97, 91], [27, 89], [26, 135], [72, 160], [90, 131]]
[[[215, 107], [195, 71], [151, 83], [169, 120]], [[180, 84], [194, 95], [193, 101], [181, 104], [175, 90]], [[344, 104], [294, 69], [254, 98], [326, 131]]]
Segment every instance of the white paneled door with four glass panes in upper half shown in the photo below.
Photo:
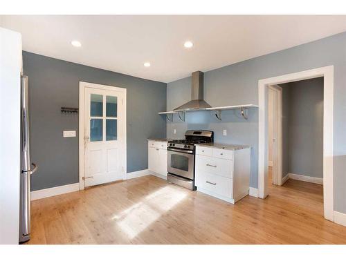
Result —
[[84, 186], [124, 179], [124, 99], [122, 91], [84, 88]]

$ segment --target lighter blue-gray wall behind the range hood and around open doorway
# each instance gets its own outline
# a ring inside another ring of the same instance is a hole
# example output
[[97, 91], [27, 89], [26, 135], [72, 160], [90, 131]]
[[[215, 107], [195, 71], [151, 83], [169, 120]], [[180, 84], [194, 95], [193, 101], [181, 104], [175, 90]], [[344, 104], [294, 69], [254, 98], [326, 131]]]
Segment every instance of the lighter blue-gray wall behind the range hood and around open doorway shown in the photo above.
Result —
[[[258, 104], [258, 80], [311, 68], [334, 65], [334, 209], [346, 213], [346, 33], [313, 41], [255, 59], [239, 62], [204, 74], [204, 99], [212, 106]], [[190, 78], [167, 84], [167, 109], [176, 108], [190, 98]], [[258, 111], [251, 111], [246, 121], [223, 112], [222, 122], [212, 114], [188, 114], [186, 122], [167, 122], [167, 137], [182, 137], [186, 128], [215, 131], [215, 140], [253, 146], [251, 186], [258, 182]], [[173, 129], [176, 128], [176, 135]], [[228, 136], [222, 129], [228, 128]]]

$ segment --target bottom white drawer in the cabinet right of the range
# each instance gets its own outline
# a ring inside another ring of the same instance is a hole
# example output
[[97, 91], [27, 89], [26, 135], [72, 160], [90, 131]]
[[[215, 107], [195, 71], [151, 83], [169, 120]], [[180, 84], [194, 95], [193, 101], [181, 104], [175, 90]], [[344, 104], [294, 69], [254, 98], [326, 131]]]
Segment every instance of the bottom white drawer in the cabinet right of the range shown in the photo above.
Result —
[[206, 172], [198, 172], [196, 173], [196, 185], [197, 190], [201, 188], [216, 195], [233, 199], [233, 182], [230, 178], [224, 178]]

